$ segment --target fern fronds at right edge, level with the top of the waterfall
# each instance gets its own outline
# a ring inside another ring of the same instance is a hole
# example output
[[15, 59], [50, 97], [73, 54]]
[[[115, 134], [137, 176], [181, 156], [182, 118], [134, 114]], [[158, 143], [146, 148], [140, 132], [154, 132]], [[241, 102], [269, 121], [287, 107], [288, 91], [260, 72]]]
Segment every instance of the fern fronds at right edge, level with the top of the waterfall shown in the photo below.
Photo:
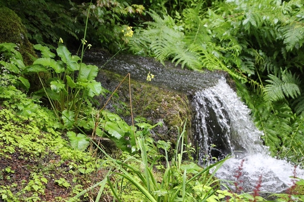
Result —
[[282, 71], [282, 76], [277, 77], [273, 74], [269, 74], [270, 79], [266, 80], [269, 84], [264, 87], [264, 99], [266, 101], [280, 101], [285, 97], [291, 97], [295, 99], [300, 93], [299, 80], [295, 75], [292, 75], [290, 71]]

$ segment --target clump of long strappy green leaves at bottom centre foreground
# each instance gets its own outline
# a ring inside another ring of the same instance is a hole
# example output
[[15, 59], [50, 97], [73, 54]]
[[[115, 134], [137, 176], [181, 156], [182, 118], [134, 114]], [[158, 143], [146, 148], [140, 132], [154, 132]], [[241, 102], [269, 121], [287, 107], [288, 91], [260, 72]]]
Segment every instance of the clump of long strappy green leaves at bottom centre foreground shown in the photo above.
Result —
[[[185, 128], [184, 128], [185, 129]], [[148, 136], [138, 136], [138, 145], [141, 151], [141, 159], [127, 158], [125, 161], [113, 162], [121, 165], [119, 172], [112, 175], [116, 177], [116, 182], [112, 183], [108, 177], [109, 186], [118, 201], [124, 201], [127, 190], [131, 187], [138, 190], [137, 198], [134, 200], [148, 200], [148, 201], [220, 201], [224, 197], [224, 191], [217, 191], [217, 180], [214, 180], [213, 175], [219, 166], [223, 163], [220, 161], [217, 164], [202, 169], [194, 163], [183, 162], [182, 156], [184, 154], [183, 140], [185, 130], [180, 134], [176, 156], [172, 159], [170, 164], [167, 159], [166, 150], [170, 148], [170, 142], [159, 141], [154, 149], [164, 149], [165, 155], [158, 153], [155, 158], [150, 156], [151, 149], [149, 149]], [[179, 149], [178, 149], [179, 148]], [[151, 159], [152, 157], [152, 159]], [[166, 165], [160, 168], [161, 176], [154, 173], [153, 167], [157, 166], [157, 160], [161, 158], [166, 159]], [[131, 162], [133, 162], [131, 164]], [[135, 164], [134, 164], [135, 163]], [[140, 166], [143, 164], [143, 166]], [[210, 175], [209, 171], [215, 167], [215, 171]], [[125, 168], [125, 169], [124, 169]], [[131, 184], [125, 183], [125, 180]], [[121, 184], [121, 186], [117, 186]], [[228, 193], [228, 192], [226, 192]], [[129, 197], [129, 195], [128, 195]]]

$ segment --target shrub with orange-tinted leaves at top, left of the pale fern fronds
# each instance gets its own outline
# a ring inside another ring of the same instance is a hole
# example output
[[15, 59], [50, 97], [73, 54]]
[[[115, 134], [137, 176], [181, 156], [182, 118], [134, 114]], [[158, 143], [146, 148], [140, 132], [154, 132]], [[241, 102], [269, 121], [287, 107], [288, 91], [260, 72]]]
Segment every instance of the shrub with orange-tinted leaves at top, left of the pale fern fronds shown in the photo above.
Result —
[[[79, 12], [76, 18], [82, 21], [89, 4], [72, 5], [72, 10]], [[88, 38], [93, 44], [98, 43], [98, 46], [112, 53], [124, 49], [128, 43], [128, 37], [124, 36], [122, 30], [145, 15], [144, 6], [133, 1], [96, 1], [90, 9]], [[83, 28], [76, 31], [81, 33]]]

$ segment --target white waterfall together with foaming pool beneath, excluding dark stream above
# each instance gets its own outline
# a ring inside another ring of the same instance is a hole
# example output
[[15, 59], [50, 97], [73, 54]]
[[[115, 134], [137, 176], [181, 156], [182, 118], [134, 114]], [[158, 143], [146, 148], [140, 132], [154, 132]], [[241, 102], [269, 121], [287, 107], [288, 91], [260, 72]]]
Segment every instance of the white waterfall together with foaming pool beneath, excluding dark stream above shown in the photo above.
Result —
[[[294, 167], [284, 160], [268, 155], [254, 126], [250, 110], [237, 94], [219, 79], [216, 86], [198, 91], [192, 102], [195, 108], [195, 134], [200, 151], [199, 164], [204, 165], [210, 156], [221, 158], [227, 154], [234, 157], [225, 161], [217, 172], [220, 179], [235, 181], [235, 173], [243, 161], [242, 180], [245, 191], [252, 191], [262, 175], [262, 191], [281, 192], [292, 185]], [[304, 172], [296, 169], [297, 177]]]

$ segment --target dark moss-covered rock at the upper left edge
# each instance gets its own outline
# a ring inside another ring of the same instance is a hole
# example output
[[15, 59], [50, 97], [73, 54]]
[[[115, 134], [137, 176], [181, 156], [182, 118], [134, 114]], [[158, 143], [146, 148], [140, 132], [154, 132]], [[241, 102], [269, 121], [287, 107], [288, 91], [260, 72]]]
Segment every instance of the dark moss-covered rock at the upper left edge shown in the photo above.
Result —
[[26, 29], [17, 14], [7, 7], [0, 7], [0, 43], [14, 43], [29, 65], [37, 57], [32, 44], [26, 38]]

